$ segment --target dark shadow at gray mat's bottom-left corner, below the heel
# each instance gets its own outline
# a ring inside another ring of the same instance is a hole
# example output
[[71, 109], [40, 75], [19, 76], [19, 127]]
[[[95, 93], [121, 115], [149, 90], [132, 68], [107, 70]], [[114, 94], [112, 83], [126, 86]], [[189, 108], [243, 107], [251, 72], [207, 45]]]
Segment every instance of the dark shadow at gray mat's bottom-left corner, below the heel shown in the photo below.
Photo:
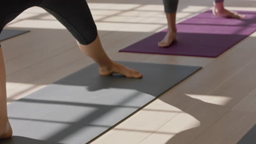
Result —
[[22, 136], [12, 136], [10, 139], [0, 140], [1, 144], [62, 144], [56, 142], [48, 142], [36, 139], [30, 139]]

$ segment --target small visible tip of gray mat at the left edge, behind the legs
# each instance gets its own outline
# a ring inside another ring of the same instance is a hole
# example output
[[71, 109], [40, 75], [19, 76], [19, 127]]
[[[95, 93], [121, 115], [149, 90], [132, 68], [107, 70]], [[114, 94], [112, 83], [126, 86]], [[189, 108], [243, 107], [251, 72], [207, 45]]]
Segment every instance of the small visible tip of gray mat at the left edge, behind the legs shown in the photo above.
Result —
[[24, 34], [30, 31], [22, 31], [22, 30], [15, 30], [15, 29], [3, 29], [0, 34], [0, 41], [16, 37], [20, 34]]

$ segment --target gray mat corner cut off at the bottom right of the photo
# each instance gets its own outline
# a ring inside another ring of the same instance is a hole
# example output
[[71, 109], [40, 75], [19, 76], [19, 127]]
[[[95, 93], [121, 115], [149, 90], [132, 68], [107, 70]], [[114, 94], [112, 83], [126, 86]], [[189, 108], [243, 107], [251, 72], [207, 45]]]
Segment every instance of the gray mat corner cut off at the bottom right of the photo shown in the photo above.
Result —
[[243, 138], [237, 142], [237, 144], [252, 144], [256, 143], [256, 125], [243, 136]]

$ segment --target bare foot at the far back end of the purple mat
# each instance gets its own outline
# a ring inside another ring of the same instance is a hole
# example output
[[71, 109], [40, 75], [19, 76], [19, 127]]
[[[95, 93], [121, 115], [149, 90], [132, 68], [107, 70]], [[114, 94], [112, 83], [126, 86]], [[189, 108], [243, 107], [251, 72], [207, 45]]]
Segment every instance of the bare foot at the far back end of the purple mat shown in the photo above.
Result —
[[233, 19], [242, 19], [245, 17], [245, 15], [236, 13], [235, 11], [230, 11], [224, 8], [224, 2], [219, 2], [219, 3], [215, 3], [214, 4], [214, 8], [213, 8], [213, 15], [216, 16], [222, 16], [222, 17], [228, 17], [228, 18], [233, 18]]

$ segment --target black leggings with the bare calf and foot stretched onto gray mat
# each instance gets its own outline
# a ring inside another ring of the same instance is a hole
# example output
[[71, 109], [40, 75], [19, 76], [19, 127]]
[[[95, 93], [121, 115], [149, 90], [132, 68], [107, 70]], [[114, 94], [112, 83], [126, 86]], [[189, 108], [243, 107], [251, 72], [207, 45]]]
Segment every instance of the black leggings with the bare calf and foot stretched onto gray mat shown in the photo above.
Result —
[[136, 70], [114, 63], [106, 55], [85, 0], [8, 0], [0, 5], [0, 32], [8, 22], [33, 6], [49, 11], [72, 33], [79, 42], [79, 48], [99, 65], [101, 75], [120, 73], [126, 77], [142, 77]]

